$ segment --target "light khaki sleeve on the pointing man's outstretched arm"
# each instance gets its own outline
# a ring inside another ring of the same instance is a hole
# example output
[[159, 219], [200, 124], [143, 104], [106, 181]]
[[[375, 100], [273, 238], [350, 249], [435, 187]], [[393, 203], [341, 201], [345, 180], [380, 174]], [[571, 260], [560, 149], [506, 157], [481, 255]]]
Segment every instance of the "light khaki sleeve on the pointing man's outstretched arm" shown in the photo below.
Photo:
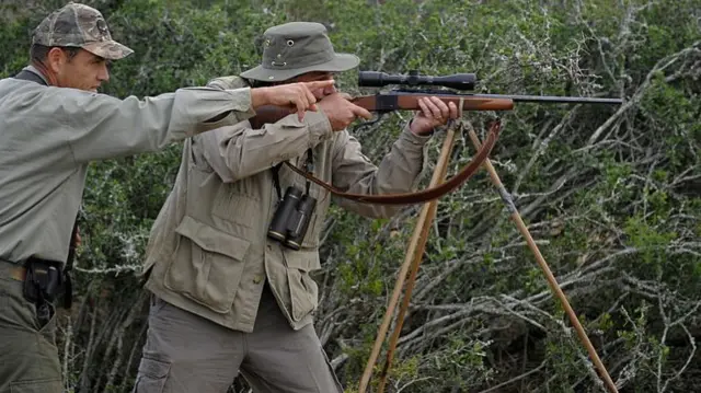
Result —
[[68, 126], [64, 137], [77, 162], [157, 151], [255, 115], [249, 88], [185, 88], [143, 100], [51, 90], [55, 114]]

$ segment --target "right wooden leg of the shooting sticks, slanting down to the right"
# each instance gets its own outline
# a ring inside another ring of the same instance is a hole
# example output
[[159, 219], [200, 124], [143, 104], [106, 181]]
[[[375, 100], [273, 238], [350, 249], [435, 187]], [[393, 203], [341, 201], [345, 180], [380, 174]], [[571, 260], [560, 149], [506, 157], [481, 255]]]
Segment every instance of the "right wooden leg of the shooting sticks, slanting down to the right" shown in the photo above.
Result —
[[[478, 135], [474, 132], [474, 129], [471, 126], [469, 128], [470, 128], [470, 139], [472, 140], [472, 145], [474, 145], [475, 149], [479, 149], [481, 146], [480, 139], [478, 138]], [[530, 235], [528, 228], [526, 228], [526, 224], [524, 223], [521, 216], [519, 215], [518, 210], [516, 209], [516, 206], [514, 205], [514, 200], [512, 199], [512, 196], [508, 194], [508, 192], [504, 187], [504, 184], [502, 184], [502, 181], [499, 180], [499, 176], [496, 174], [496, 170], [492, 165], [492, 162], [490, 161], [490, 159], [484, 160], [484, 166], [490, 173], [490, 177], [492, 177], [492, 183], [494, 184], [499, 195], [502, 196], [502, 200], [504, 200], [504, 204], [506, 204], [506, 207], [512, 212], [512, 220], [514, 220], [514, 222], [516, 223], [516, 227], [518, 227], [519, 232], [521, 232], [521, 235], [524, 235], [524, 238], [526, 239], [526, 242], [528, 243], [528, 247], [533, 253], [533, 255], [536, 256], [536, 261], [538, 262], [538, 265], [540, 265], [540, 268], [545, 274], [545, 278], [548, 279], [550, 289], [553, 292], [555, 292], [558, 298], [560, 298], [562, 305], [565, 308], [565, 312], [567, 313], [567, 316], [570, 316], [570, 321], [574, 325], [574, 328], [577, 332], [577, 336], [579, 336], [582, 344], [584, 344], [584, 346], [587, 348], [587, 351], [589, 352], [589, 357], [591, 358], [591, 360], [594, 360], [594, 365], [599, 370], [600, 377], [606, 383], [606, 386], [611, 393], [618, 393], [618, 389], [616, 388], [616, 384], [611, 380], [611, 377], [609, 375], [608, 371], [606, 371], [606, 367], [604, 367], [601, 359], [599, 359], [599, 356], [596, 354], [596, 349], [594, 349], [591, 342], [589, 342], [589, 337], [587, 337], [586, 332], [584, 332], [584, 327], [582, 327], [582, 324], [579, 323], [577, 315], [574, 313], [574, 310], [572, 310], [572, 307], [570, 305], [570, 302], [567, 301], [567, 298], [565, 297], [564, 292], [560, 288], [560, 285], [558, 284], [555, 276], [553, 276], [552, 271], [550, 270], [550, 267], [548, 267], [548, 263], [545, 263], [545, 258], [543, 258], [543, 256], [540, 254], [540, 250], [538, 248], [538, 245], [533, 241], [533, 238]]]

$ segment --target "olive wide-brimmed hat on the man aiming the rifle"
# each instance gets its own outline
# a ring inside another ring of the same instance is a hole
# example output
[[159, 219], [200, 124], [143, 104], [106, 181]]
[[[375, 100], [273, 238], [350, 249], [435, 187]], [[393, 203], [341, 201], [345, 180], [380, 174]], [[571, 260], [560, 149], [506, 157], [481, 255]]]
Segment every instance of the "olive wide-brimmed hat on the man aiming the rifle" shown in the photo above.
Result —
[[355, 55], [334, 51], [323, 24], [289, 22], [263, 33], [263, 62], [241, 77], [285, 81], [310, 71], [347, 71], [359, 62]]

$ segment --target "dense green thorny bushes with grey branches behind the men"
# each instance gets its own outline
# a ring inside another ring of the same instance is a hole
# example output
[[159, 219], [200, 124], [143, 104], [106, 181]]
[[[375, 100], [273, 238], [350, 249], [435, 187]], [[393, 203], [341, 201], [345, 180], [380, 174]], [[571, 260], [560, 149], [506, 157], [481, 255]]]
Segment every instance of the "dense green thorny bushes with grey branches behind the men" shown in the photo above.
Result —
[[[1, 2], [0, 77], [62, 1]], [[518, 104], [492, 160], [620, 392], [701, 384], [699, 0], [96, 0], [136, 53], [104, 89], [154, 95], [257, 63], [262, 32], [319, 21], [360, 69], [476, 72], [481, 92], [618, 96], [622, 106]], [[358, 93], [355, 71], [340, 85]], [[410, 113], [358, 130], [387, 152]], [[469, 113], [484, 135], [493, 113]], [[432, 165], [443, 134], [430, 145]], [[135, 278], [180, 145], [91, 165], [78, 299], [59, 315], [71, 392], [128, 392], [147, 328]], [[450, 173], [467, 163], [456, 146]], [[430, 178], [433, 166], [422, 187]], [[334, 208], [317, 330], [357, 389], [420, 207], [392, 220]], [[246, 391], [235, 381], [231, 391]], [[601, 392], [587, 352], [484, 171], [443, 198], [391, 373], [391, 392]]]

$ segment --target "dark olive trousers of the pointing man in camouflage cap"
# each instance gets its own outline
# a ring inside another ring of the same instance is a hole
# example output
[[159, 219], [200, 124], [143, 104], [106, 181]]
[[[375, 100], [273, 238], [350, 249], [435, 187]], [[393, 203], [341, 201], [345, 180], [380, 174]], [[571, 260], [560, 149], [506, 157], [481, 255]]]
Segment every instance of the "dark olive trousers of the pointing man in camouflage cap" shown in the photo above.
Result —
[[39, 323], [23, 282], [11, 278], [16, 267], [0, 261], [0, 393], [60, 393], [56, 312]]

